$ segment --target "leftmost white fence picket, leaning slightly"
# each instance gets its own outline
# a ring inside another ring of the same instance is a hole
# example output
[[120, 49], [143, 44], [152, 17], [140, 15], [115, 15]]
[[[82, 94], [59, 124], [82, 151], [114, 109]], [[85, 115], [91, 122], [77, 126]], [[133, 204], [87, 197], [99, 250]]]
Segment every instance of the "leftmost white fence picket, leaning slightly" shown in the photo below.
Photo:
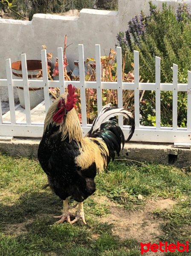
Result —
[[6, 60], [6, 75], [7, 75], [7, 87], [8, 87], [8, 95], [9, 95], [11, 123], [16, 124], [15, 109], [14, 109], [13, 79], [12, 79], [12, 69], [11, 69], [10, 58]]

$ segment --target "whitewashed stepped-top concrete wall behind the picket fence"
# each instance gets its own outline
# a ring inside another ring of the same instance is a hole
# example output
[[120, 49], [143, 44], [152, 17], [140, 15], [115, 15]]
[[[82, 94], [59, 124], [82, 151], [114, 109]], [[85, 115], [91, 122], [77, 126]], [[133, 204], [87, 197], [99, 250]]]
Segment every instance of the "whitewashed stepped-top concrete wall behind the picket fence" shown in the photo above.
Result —
[[[161, 6], [163, 0], [153, 0]], [[177, 7], [182, 0], [166, 0]], [[191, 6], [191, 0], [185, 0]], [[67, 34], [67, 58], [70, 67], [78, 59], [78, 44], [84, 44], [84, 57], [94, 57], [95, 44], [101, 45], [101, 54], [115, 48], [116, 35], [127, 29], [131, 17], [144, 10], [148, 13], [148, 0], [119, 0], [118, 12], [83, 9], [80, 17], [36, 14], [32, 21], [0, 19], [0, 79], [6, 78], [5, 60], [20, 60], [26, 53], [27, 59], [41, 59], [42, 45], [57, 56], [57, 47], [63, 47]], [[7, 100], [7, 92], [0, 89], [1, 100]]]

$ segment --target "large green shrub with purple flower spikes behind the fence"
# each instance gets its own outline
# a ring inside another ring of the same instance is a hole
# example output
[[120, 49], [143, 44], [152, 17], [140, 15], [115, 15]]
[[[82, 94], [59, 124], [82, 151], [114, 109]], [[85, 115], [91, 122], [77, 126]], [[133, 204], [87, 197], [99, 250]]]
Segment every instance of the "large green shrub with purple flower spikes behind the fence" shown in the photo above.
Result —
[[[161, 58], [161, 82], [171, 83], [173, 63], [178, 65], [178, 82], [186, 83], [191, 70], [191, 14], [184, 3], [177, 12], [166, 3], [162, 10], [150, 2], [150, 14], [141, 12], [128, 22], [126, 32], [117, 40], [122, 52], [127, 52], [125, 70], [133, 61], [133, 50], [139, 51], [139, 70], [144, 81], [155, 82], [155, 56]], [[141, 124], [155, 125], [155, 92], [146, 91], [141, 102]], [[186, 92], [178, 93], [178, 126], [185, 127], [187, 119]], [[172, 92], [161, 92], [161, 125], [172, 125]]]

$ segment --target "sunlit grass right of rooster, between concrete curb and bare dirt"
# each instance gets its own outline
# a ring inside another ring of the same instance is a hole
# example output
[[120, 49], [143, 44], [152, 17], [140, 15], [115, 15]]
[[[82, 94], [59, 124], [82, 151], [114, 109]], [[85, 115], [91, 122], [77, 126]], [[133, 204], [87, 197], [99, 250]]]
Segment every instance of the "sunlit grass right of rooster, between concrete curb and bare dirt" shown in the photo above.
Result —
[[[103, 182], [104, 180], [104, 182]], [[98, 175], [99, 192], [113, 201], [132, 209], [149, 198], [181, 198], [191, 195], [191, 172], [182, 172], [173, 166], [161, 164], [130, 165], [122, 162], [110, 163], [108, 169]]]

